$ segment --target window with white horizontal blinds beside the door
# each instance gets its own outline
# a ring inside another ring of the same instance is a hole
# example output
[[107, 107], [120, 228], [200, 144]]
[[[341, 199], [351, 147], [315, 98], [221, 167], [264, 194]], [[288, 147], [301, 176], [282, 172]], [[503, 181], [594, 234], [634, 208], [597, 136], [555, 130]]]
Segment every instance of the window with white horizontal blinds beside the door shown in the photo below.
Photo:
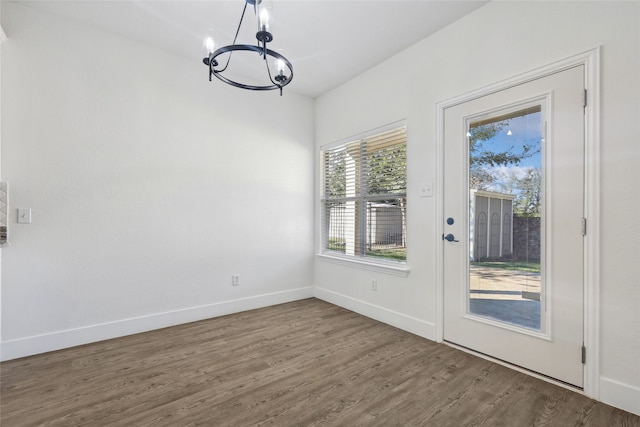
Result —
[[407, 259], [406, 128], [322, 151], [323, 252]]

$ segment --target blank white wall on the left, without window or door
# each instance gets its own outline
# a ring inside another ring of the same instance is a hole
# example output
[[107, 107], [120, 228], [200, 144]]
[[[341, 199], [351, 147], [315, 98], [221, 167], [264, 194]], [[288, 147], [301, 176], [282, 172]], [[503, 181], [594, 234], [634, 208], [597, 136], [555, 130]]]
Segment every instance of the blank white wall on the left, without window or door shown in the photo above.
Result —
[[3, 359], [312, 296], [312, 99], [2, 8]]

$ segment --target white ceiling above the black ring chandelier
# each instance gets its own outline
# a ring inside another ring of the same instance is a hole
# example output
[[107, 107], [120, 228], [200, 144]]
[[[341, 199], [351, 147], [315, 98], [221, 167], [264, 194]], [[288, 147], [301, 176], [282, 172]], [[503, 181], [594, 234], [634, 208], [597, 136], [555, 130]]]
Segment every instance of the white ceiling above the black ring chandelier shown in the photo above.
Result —
[[[266, 0], [272, 4], [269, 48], [294, 67], [285, 91], [317, 97], [398, 51], [471, 13], [487, 1], [472, 0]], [[231, 44], [243, 0], [20, 1], [70, 17], [201, 63], [202, 42], [214, 33], [218, 47]], [[249, 13], [249, 11], [251, 13]], [[248, 9], [238, 43], [255, 43]], [[246, 30], [246, 31], [245, 31]], [[203, 67], [203, 78], [206, 68]]]

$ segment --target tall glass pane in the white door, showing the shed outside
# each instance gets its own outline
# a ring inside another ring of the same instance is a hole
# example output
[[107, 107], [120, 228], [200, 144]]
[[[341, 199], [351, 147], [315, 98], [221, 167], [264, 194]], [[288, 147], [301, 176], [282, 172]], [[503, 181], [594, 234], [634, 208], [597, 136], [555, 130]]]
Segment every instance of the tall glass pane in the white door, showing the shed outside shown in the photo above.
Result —
[[468, 312], [542, 331], [540, 105], [471, 120]]

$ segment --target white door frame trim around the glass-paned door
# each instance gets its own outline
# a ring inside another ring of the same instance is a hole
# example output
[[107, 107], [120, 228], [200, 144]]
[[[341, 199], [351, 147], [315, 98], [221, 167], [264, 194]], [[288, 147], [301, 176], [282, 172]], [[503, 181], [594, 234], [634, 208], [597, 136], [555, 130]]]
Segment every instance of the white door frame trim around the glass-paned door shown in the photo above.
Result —
[[[483, 96], [509, 89], [520, 84], [584, 65], [585, 97], [584, 121], [584, 211], [587, 233], [584, 242], [584, 364], [583, 392], [599, 398], [599, 344], [600, 344], [600, 50], [596, 48], [553, 62], [535, 70], [485, 86], [436, 104], [436, 236], [444, 232], [444, 116], [445, 110]], [[436, 239], [436, 341], [444, 341], [444, 245]], [[473, 351], [470, 351], [475, 353]], [[477, 353], [476, 353], [477, 354]], [[486, 356], [483, 356], [486, 357]], [[497, 361], [497, 360], [496, 360]], [[499, 362], [503, 363], [504, 362]], [[529, 371], [522, 370], [525, 373]], [[557, 383], [546, 377], [535, 375]]]

